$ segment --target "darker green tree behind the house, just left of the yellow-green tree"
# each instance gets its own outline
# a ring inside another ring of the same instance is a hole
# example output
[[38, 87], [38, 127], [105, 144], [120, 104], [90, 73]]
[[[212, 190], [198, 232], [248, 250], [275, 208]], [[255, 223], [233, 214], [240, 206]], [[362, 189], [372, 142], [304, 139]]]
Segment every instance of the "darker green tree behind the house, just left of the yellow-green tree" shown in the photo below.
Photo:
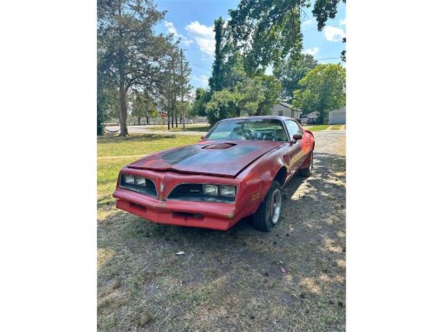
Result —
[[281, 98], [291, 102], [294, 90], [300, 89], [298, 82], [315, 66], [317, 60], [309, 54], [300, 54], [300, 57], [288, 57], [273, 69], [273, 74], [282, 83]]

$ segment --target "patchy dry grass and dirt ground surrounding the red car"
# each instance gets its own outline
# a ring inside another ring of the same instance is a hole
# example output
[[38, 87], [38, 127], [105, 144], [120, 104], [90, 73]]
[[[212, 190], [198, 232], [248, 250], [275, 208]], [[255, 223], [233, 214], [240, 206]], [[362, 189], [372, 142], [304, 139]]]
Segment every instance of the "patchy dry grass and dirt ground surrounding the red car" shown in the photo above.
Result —
[[334, 151], [316, 139], [314, 176], [284, 189], [273, 232], [156, 225], [115, 208], [123, 165], [199, 139], [98, 138], [98, 331], [345, 331], [344, 139]]

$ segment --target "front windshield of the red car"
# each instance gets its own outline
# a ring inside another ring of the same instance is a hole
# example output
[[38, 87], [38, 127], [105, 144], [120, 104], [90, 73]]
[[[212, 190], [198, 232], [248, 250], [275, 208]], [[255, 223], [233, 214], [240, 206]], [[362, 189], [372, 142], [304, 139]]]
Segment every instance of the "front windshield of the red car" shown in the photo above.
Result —
[[215, 125], [206, 140], [286, 141], [282, 122], [277, 119], [226, 120]]

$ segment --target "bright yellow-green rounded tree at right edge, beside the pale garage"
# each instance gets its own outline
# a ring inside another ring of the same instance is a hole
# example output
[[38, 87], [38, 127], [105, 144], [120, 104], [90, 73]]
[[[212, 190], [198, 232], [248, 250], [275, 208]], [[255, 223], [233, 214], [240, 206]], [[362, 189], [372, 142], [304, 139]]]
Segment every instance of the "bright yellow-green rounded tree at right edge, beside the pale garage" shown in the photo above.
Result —
[[346, 104], [346, 71], [340, 64], [319, 64], [300, 80], [293, 92], [294, 107], [319, 111], [320, 122], [332, 109]]

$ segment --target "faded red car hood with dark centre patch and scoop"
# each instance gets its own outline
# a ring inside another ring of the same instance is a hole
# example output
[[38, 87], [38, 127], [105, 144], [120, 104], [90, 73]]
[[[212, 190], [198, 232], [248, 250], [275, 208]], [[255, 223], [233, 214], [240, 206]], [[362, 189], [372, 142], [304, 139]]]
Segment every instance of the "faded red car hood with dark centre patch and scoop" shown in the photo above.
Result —
[[127, 167], [235, 177], [282, 142], [257, 140], [203, 140], [193, 145], [152, 154]]

